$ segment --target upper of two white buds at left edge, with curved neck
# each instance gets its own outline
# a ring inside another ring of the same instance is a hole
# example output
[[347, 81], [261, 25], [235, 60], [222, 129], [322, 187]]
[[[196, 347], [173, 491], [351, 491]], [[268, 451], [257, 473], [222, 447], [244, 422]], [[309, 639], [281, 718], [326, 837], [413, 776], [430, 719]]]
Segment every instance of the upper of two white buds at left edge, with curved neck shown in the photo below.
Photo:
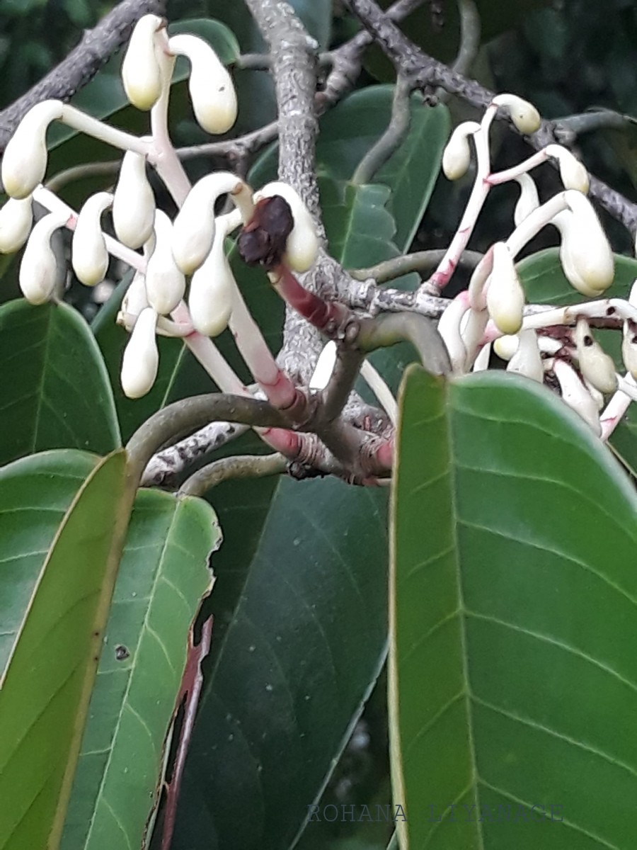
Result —
[[12, 198], [31, 195], [47, 171], [47, 128], [62, 117], [59, 100], [43, 100], [28, 111], [3, 154], [4, 191]]

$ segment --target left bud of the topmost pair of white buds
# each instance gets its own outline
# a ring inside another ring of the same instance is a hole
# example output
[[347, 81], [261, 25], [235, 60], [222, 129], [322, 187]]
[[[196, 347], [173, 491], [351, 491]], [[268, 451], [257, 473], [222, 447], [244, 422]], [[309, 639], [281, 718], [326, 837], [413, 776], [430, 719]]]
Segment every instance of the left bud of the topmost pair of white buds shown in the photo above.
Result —
[[144, 14], [132, 31], [121, 63], [121, 82], [133, 106], [149, 110], [160, 99], [165, 79], [158, 58], [155, 34], [164, 26], [156, 14]]

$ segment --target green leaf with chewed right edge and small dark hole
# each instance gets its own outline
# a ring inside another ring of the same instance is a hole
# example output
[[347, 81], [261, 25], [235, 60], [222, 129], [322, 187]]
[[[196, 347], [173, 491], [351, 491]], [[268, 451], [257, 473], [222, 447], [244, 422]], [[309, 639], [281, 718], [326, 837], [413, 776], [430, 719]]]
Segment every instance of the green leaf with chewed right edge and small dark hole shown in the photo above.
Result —
[[211, 507], [141, 490], [132, 510], [62, 850], [141, 847], [183, 676], [211, 590]]

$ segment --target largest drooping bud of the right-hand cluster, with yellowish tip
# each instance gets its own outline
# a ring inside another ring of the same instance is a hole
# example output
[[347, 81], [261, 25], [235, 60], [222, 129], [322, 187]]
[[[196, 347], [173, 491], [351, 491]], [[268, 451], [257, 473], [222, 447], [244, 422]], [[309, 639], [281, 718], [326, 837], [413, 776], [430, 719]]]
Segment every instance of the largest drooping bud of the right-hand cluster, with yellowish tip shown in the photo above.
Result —
[[586, 297], [599, 297], [612, 284], [615, 258], [600, 220], [588, 199], [565, 192], [569, 210], [553, 218], [561, 232], [560, 259], [567, 279]]

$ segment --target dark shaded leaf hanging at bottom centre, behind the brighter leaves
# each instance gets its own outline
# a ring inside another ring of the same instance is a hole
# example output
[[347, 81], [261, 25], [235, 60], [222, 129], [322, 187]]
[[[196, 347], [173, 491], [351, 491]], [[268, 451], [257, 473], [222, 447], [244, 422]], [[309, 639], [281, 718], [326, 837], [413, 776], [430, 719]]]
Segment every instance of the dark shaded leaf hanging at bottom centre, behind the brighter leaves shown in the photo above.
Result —
[[384, 495], [233, 484], [173, 850], [290, 847], [385, 656]]

